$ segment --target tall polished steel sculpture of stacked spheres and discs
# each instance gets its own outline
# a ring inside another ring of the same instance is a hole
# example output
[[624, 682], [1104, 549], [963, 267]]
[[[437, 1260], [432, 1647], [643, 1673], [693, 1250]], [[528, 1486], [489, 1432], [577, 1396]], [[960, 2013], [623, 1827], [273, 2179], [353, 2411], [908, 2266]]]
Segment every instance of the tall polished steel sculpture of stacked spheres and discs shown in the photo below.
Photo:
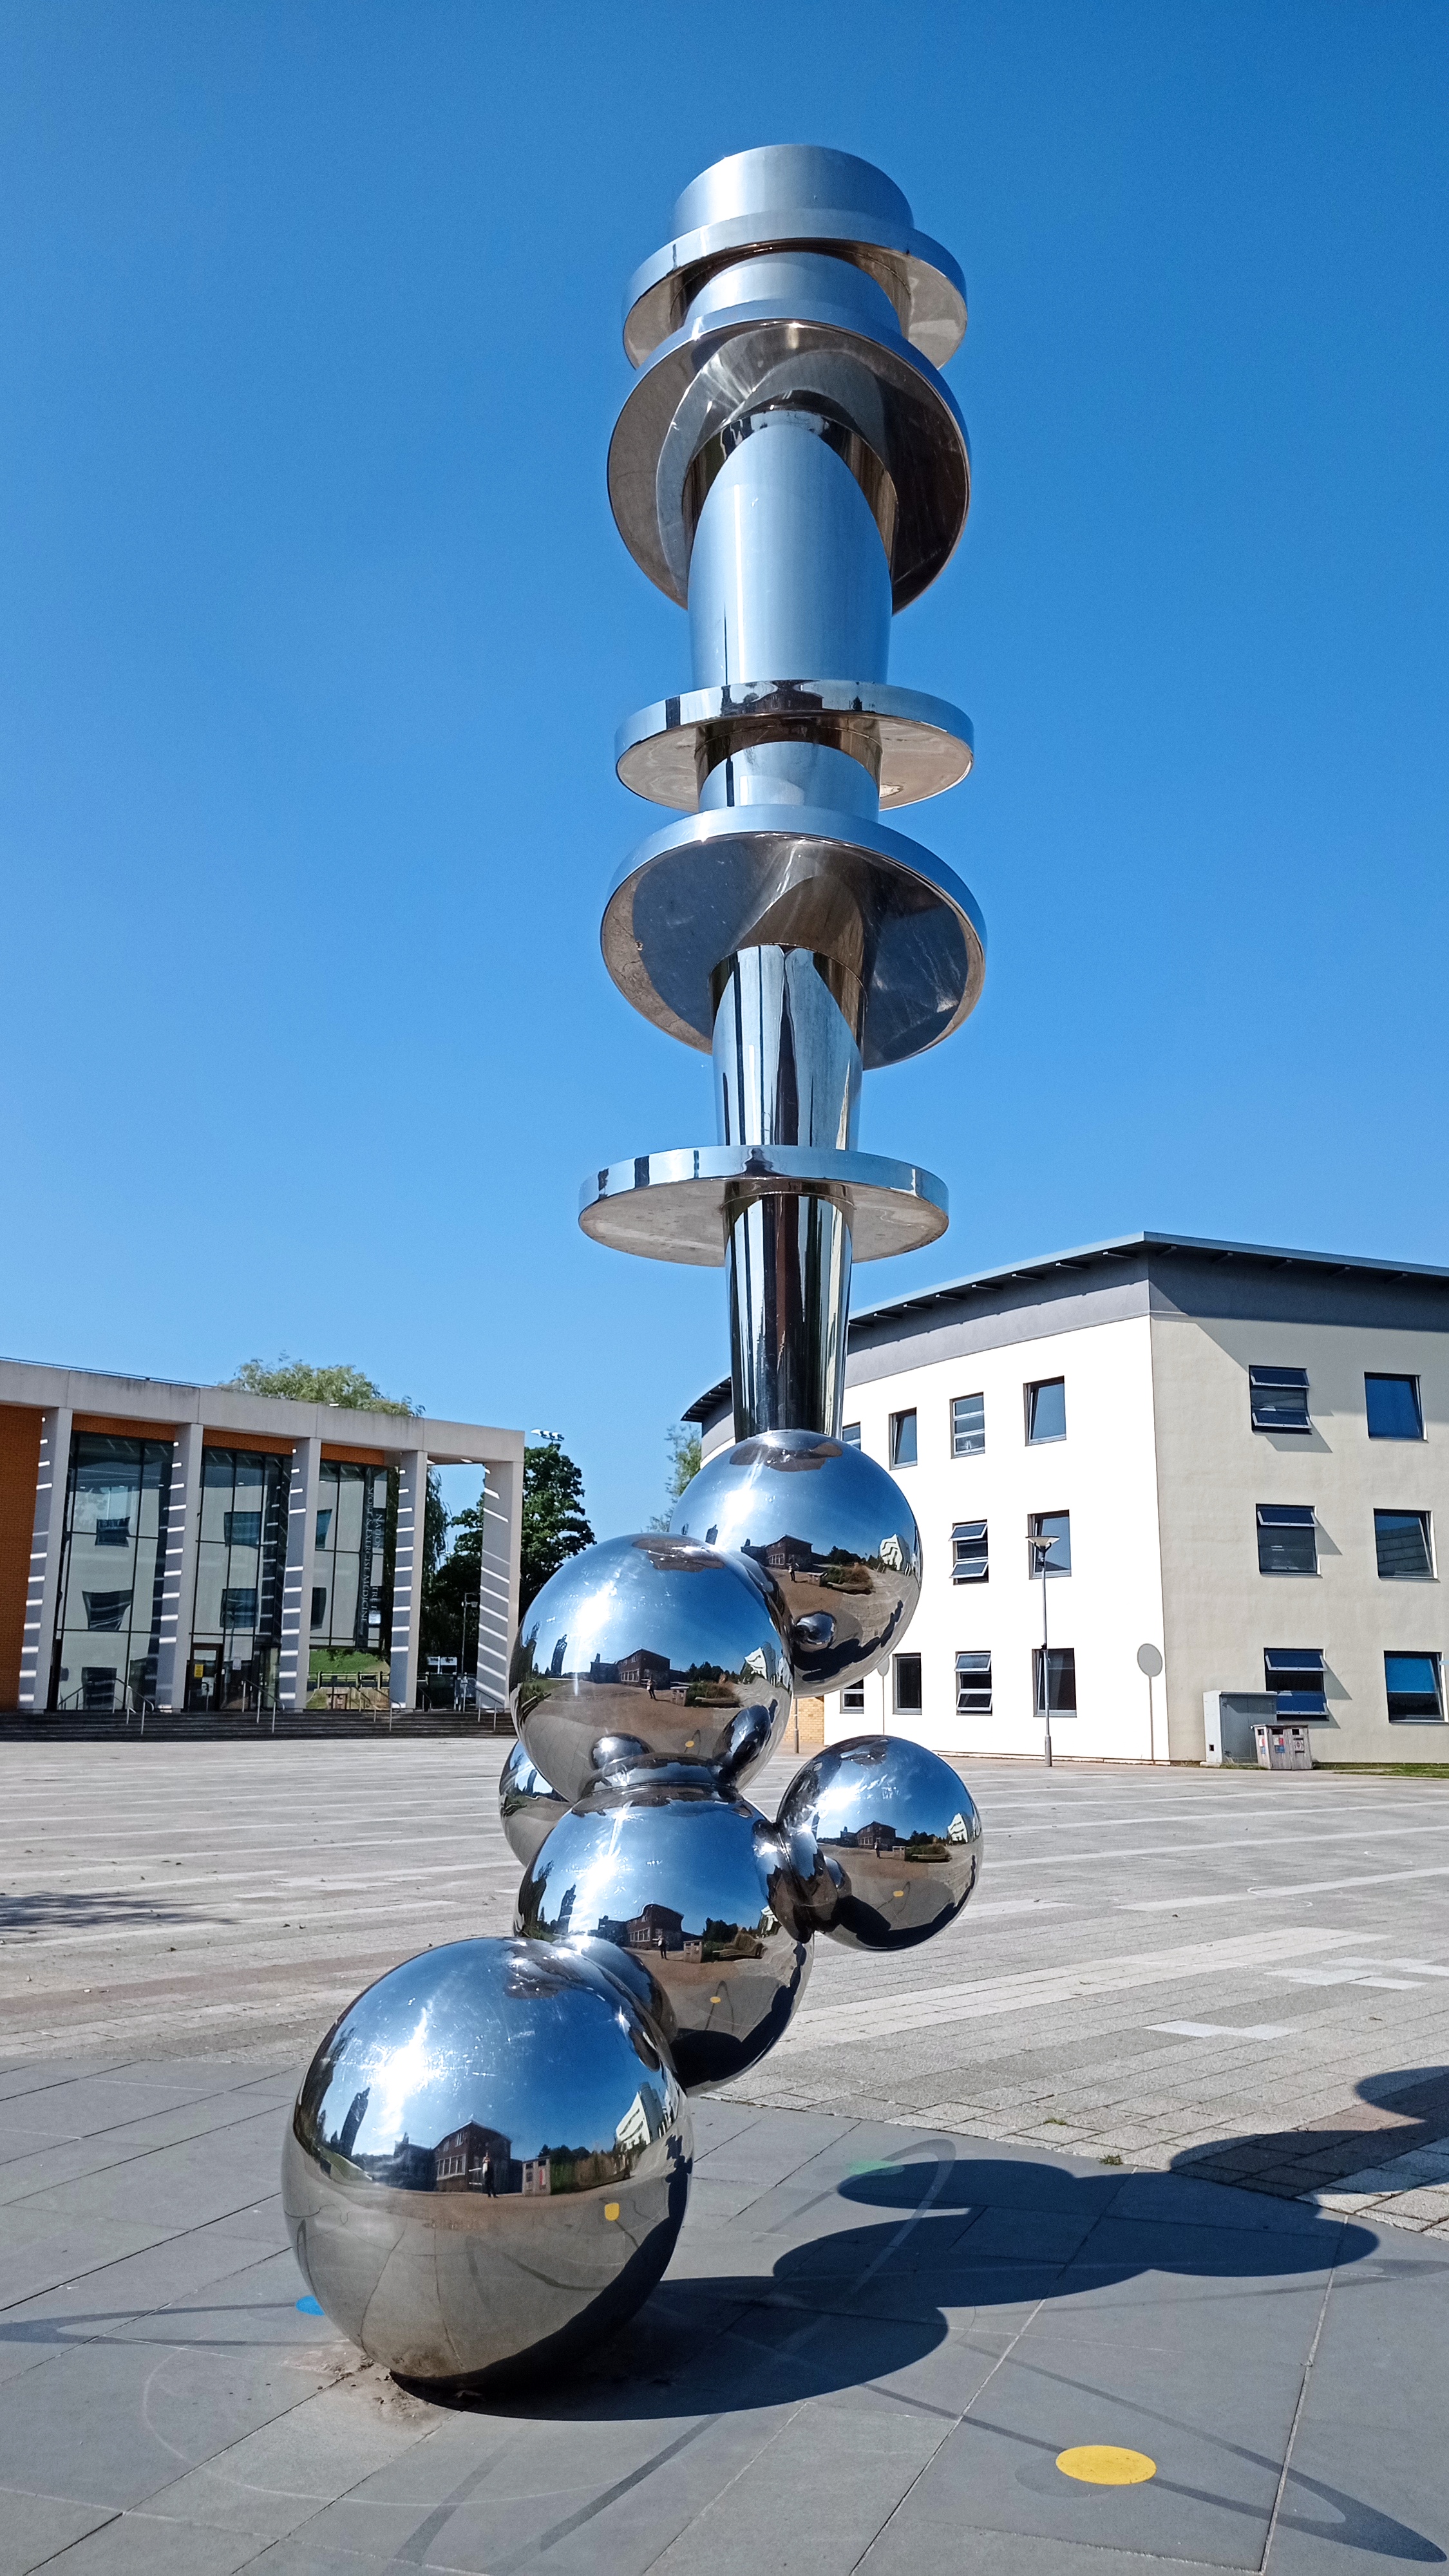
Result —
[[951, 1036], [985, 966], [967, 889], [882, 822], [972, 765], [967, 719], [887, 680], [892, 613], [967, 518], [938, 376], [964, 322], [900, 191], [804, 144], [694, 180], [629, 289], [608, 492], [694, 670], [619, 732], [619, 778], [683, 814], [619, 871], [603, 958], [712, 1056], [717, 1141], [598, 1170], [580, 1224], [724, 1267], [735, 1440], [668, 1533], [570, 1558], [523, 1618], [500, 1814], [526, 1937], [382, 1978], [302, 2087], [299, 2259], [413, 2378], [627, 2316], [683, 2215], [683, 2092], [784, 2035], [815, 1932], [910, 1947], [977, 1883], [972, 1798], [918, 1744], [830, 1747], [776, 1824], [743, 1795], [792, 1690], [882, 1664], [920, 1592], [913, 1512], [841, 1406], [851, 1265], [946, 1226], [931, 1172], [861, 1151], [861, 1077]]

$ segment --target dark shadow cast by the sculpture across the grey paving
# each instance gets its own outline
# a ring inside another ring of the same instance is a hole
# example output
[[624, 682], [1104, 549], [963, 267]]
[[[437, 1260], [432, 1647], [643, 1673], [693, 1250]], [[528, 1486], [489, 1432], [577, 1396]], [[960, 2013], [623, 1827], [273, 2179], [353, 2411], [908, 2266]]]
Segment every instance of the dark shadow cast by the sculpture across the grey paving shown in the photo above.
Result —
[[[1196, 2192], [1191, 2182], [1165, 2174], [1075, 2174], [1057, 2161], [959, 2156], [954, 2143], [941, 2146], [933, 2156], [908, 2148], [820, 2192], [794, 2213], [797, 2221], [822, 2202], [879, 2215], [861, 2215], [859, 2223], [786, 2246], [768, 2277], [665, 2275], [632, 2324], [557, 2380], [516, 2383], [487, 2398], [433, 2401], [464, 2414], [541, 2424], [660, 2424], [665, 2437], [639, 2468], [539, 2532], [516, 2553], [518, 2563], [534, 2563], [606, 2514], [732, 2414], [776, 2406], [794, 2411], [861, 2385], [895, 2398], [905, 2414], [938, 2419], [941, 2439], [969, 2421], [987, 2437], [1039, 2452], [1036, 2463], [1024, 2460], [1021, 2478], [1057, 2486], [1057, 2439], [1039, 2439], [1021, 2421], [995, 2421], [990, 2401], [977, 2409], [964, 2391], [964, 2403], [944, 2406], [941, 2383], [931, 2383], [931, 2398], [895, 2383], [897, 2372], [936, 2352], [951, 2334], [944, 2308], [957, 2311], [959, 2339], [962, 2308], [975, 2311], [980, 2331], [990, 2311], [1029, 2313], [1039, 2303], [1080, 2300], [1145, 2275], [1222, 2282], [1225, 2290], [1263, 2285], [1271, 2295], [1271, 2287], [1297, 2287], [1307, 2275], [1328, 2277], [1366, 2257], [1377, 2257], [1374, 2280], [1397, 2272], [1423, 2277], [1426, 2269], [1423, 2257], [1395, 2264], [1369, 2228], [1310, 2208], [1294, 2210], [1292, 2221], [1287, 2213], [1263, 2213], [1261, 2223], [1243, 2226], [1225, 2215], [1214, 2190]], [[779, 2221], [789, 2223], [789, 2215]], [[1122, 2331], [1132, 2336], [1129, 2316], [1116, 2313]], [[1003, 2329], [1011, 2331], [1006, 2316], [998, 2334]], [[1031, 2367], [1026, 2352], [1021, 2365]], [[1075, 2385], [1062, 2362], [1049, 2375], [1060, 2385]], [[1142, 2414], [1165, 2432], [1183, 2429], [1171, 2380], [1160, 2406]], [[1220, 2437], [1220, 2447], [1253, 2473], [1276, 2478], [1281, 2470], [1279, 2452], [1227, 2437]], [[1261, 2530], [1258, 2506], [1235, 2504], [1217, 2488], [1158, 2478], [1155, 2491], [1243, 2512]], [[446, 2509], [428, 2524], [428, 2537], [441, 2519]], [[1330, 2540], [1408, 2566], [1449, 2563], [1426, 2532], [1297, 2468], [1287, 2478], [1281, 2530], [1294, 2540]], [[511, 2576], [511, 2568], [513, 2561], [503, 2558], [498, 2576]]]

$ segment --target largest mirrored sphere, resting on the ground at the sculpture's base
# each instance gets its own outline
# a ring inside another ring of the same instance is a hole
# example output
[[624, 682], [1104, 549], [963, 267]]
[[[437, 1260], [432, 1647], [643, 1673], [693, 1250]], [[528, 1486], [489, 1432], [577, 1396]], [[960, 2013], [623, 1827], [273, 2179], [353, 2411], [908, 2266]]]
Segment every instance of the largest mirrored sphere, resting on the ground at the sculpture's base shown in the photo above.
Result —
[[392, 1968], [322, 2040], [281, 2154], [297, 2262], [407, 2380], [544, 2370], [634, 2313], [688, 2197], [691, 2123], [621, 1981], [521, 1940]]

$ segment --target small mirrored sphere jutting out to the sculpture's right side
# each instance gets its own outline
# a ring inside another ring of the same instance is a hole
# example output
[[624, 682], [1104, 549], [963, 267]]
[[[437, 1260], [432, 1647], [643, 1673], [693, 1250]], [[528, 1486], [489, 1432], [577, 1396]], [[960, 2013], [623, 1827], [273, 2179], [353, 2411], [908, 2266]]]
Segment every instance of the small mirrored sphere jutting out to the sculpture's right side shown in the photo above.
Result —
[[779, 1821], [820, 1847], [835, 1886], [817, 1929], [853, 1950], [913, 1950], [964, 1906], [982, 1821], [949, 1762], [905, 1736], [828, 1744], [789, 1783]]

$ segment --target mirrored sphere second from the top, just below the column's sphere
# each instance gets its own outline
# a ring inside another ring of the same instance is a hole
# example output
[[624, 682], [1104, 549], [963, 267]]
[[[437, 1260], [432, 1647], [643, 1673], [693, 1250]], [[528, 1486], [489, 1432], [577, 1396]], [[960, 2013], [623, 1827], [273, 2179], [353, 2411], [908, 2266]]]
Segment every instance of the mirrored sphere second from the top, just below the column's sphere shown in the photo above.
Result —
[[523, 1615], [508, 1672], [531, 1762], [572, 1806], [619, 1762], [748, 1780], [789, 1716], [768, 1577], [668, 1533], [570, 1556]]

